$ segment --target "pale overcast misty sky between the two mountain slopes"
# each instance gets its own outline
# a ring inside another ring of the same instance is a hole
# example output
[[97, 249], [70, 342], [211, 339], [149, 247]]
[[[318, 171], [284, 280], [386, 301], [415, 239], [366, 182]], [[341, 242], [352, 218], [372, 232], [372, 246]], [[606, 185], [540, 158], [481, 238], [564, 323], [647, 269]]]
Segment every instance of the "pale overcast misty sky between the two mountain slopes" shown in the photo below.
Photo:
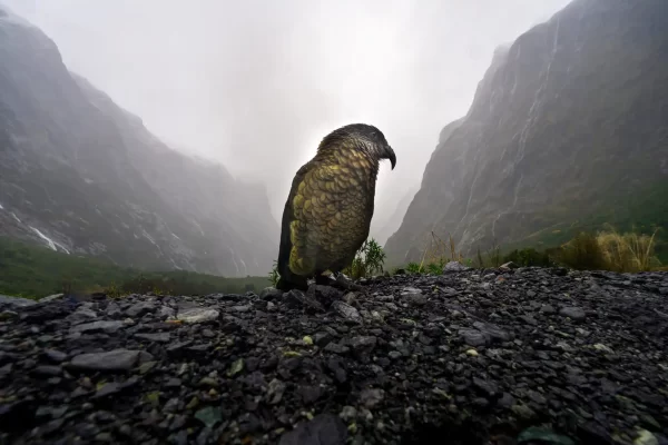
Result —
[[[0, 0], [65, 63], [173, 147], [267, 185], [281, 220], [296, 170], [331, 130], [377, 126], [377, 218], [422, 180], [494, 48], [569, 0]], [[375, 219], [375, 218], [374, 218]]]

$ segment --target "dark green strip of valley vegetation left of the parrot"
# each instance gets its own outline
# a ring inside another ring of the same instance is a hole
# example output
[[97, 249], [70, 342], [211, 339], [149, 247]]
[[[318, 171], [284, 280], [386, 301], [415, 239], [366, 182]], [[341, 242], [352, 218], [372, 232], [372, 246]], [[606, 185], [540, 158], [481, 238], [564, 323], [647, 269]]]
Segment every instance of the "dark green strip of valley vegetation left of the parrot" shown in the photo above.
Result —
[[225, 278], [186, 270], [141, 271], [94, 258], [57, 253], [0, 237], [0, 294], [41, 298], [49, 294], [107, 293], [120, 296], [243, 294], [259, 291], [266, 277]]

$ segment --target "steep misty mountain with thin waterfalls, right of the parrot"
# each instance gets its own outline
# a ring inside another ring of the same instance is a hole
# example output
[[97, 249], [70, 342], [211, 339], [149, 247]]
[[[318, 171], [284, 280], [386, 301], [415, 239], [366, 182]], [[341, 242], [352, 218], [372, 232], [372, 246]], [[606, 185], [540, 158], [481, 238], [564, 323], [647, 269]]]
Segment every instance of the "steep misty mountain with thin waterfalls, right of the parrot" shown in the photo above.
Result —
[[431, 230], [477, 248], [548, 246], [603, 222], [668, 228], [664, 0], [574, 0], [497, 49], [446, 126], [389, 261]]

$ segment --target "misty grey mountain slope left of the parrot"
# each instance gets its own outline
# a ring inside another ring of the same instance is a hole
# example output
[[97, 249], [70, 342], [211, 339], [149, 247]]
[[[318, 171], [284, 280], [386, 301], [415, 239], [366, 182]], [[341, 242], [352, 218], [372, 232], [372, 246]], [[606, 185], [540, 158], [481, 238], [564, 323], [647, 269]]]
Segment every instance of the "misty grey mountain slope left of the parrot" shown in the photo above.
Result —
[[4, 7], [0, 60], [0, 236], [138, 268], [271, 270], [264, 186], [173, 150]]

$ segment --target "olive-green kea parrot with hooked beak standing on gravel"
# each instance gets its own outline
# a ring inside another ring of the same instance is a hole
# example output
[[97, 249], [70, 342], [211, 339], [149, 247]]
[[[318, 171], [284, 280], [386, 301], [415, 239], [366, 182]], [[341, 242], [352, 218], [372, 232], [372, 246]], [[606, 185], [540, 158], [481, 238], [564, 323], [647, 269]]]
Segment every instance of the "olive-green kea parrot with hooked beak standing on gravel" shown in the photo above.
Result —
[[322, 139], [297, 170], [285, 202], [277, 289], [307, 290], [311, 278], [331, 284], [327, 270], [342, 278], [369, 236], [382, 159], [394, 170], [394, 150], [374, 126], [351, 123]]

